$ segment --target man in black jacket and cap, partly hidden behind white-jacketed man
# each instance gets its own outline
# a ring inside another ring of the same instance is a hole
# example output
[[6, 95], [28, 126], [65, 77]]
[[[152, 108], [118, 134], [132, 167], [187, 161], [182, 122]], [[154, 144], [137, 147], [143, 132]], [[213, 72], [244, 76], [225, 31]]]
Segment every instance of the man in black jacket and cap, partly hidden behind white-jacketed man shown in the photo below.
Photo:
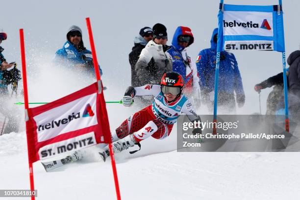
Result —
[[131, 85], [133, 87], [140, 86], [140, 81], [134, 71], [135, 64], [139, 59], [141, 51], [146, 47], [147, 43], [153, 39], [153, 30], [150, 27], [144, 27], [140, 30], [140, 34], [134, 38], [134, 47], [129, 53], [129, 63], [131, 66]]

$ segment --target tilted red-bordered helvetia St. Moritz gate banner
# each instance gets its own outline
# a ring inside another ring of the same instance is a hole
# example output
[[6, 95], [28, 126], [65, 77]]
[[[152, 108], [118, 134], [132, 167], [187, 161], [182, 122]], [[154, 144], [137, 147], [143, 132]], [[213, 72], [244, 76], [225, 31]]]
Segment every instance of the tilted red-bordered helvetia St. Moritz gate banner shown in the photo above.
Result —
[[102, 116], [106, 112], [101, 110], [103, 93], [98, 91], [96, 82], [59, 100], [28, 109], [29, 162], [109, 143], [108, 118]]

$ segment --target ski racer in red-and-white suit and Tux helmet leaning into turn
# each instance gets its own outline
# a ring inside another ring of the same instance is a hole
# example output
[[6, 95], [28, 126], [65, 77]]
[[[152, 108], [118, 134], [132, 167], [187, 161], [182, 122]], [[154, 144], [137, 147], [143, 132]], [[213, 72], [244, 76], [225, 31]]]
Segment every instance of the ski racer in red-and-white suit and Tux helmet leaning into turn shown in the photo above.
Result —
[[[136, 96], [154, 96], [152, 104], [128, 117], [115, 132], [112, 132], [113, 151], [119, 153], [138, 145], [149, 138], [164, 139], [171, 133], [173, 125], [181, 113], [187, 114], [191, 122], [200, 122], [193, 105], [182, 94], [183, 77], [176, 72], [165, 73], [160, 85], [144, 85], [142, 87], [128, 87], [123, 97], [123, 105], [130, 106]], [[193, 130], [193, 134], [200, 134], [201, 128]], [[134, 153], [137, 150], [131, 151]], [[105, 161], [109, 156], [108, 146], [103, 148], [100, 156]]]

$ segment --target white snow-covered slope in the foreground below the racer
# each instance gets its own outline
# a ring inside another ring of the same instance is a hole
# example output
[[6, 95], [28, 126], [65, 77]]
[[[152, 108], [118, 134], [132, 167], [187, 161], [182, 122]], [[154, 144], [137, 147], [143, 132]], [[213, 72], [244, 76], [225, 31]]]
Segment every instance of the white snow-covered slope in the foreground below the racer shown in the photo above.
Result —
[[[2, 137], [0, 188], [28, 188], [24, 133], [11, 133]], [[165, 146], [170, 145], [170, 142], [153, 140], [144, 143], [143, 149], [134, 156], [128, 152], [117, 155], [122, 199], [300, 198], [299, 153], [167, 151], [170, 148]], [[148, 150], [149, 146], [155, 146], [155, 151], [163, 152], [152, 154]], [[88, 158], [50, 173], [45, 172], [40, 162], [35, 163], [33, 167], [38, 199], [116, 199], [110, 162], [100, 161], [96, 151], [91, 148]]]

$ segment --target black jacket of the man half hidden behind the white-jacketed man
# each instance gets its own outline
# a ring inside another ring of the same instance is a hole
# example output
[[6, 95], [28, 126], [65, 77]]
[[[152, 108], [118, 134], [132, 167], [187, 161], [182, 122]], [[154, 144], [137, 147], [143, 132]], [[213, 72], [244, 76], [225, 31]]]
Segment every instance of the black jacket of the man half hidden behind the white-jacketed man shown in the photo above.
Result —
[[137, 87], [140, 86], [139, 78], [135, 73], [135, 64], [139, 59], [141, 51], [145, 48], [145, 45], [134, 43], [134, 47], [132, 47], [132, 51], [129, 53], [129, 63], [131, 66], [131, 86]]

